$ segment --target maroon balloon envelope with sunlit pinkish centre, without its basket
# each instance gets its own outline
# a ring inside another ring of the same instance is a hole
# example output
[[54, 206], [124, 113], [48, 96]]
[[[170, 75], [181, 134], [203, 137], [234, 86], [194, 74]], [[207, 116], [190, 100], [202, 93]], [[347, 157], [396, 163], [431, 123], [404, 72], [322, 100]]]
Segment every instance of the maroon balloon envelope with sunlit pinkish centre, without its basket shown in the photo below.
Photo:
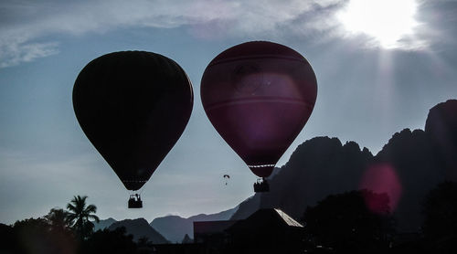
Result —
[[200, 92], [209, 121], [252, 173], [265, 179], [308, 121], [317, 82], [311, 65], [292, 48], [254, 41], [214, 58]]

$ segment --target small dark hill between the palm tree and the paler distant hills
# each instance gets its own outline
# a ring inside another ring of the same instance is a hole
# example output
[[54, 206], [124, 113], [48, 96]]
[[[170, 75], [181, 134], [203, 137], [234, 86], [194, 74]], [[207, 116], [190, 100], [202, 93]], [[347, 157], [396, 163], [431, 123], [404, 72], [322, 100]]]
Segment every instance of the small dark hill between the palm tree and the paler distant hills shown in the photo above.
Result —
[[115, 228], [121, 227], [125, 227], [127, 234], [133, 235], [134, 241], [138, 241], [139, 238], [146, 237], [154, 244], [168, 243], [168, 240], [151, 227], [151, 225], [149, 225], [144, 218], [117, 221], [114, 222], [108, 229], [114, 230]]

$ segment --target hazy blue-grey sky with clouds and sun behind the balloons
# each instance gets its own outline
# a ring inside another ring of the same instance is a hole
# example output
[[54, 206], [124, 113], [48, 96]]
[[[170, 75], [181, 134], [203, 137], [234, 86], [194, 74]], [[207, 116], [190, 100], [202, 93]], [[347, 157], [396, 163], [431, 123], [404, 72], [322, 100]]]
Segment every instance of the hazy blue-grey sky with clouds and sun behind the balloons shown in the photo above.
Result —
[[[301, 53], [318, 83], [314, 112], [278, 166], [315, 136], [376, 154], [457, 99], [455, 0], [0, 2], [0, 223], [89, 196], [101, 218], [217, 213], [253, 195], [256, 176], [207, 120], [203, 71], [232, 46], [268, 40]], [[192, 81], [186, 130], [141, 190], [143, 209], [86, 138], [72, 108], [80, 70], [122, 50], [174, 59]], [[223, 175], [230, 175], [225, 185]]]

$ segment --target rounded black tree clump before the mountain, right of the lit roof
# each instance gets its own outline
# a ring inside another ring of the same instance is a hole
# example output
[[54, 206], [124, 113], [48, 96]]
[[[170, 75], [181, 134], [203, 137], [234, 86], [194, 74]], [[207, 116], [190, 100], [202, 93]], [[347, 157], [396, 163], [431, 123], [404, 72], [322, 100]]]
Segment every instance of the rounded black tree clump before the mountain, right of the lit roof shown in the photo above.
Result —
[[[377, 199], [385, 214], [368, 209], [366, 197]], [[338, 251], [378, 253], [388, 249], [394, 231], [394, 220], [388, 212], [386, 194], [368, 190], [331, 195], [317, 206], [307, 207], [303, 223], [310, 238], [317, 244]]]

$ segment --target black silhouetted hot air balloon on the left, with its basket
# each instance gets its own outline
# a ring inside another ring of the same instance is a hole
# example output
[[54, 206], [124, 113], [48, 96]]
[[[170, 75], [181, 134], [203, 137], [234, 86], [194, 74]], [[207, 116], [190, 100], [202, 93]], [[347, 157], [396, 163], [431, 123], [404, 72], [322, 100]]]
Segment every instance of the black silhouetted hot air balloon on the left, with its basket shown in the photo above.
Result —
[[193, 101], [186, 72], [170, 58], [143, 51], [92, 60], [73, 87], [73, 108], [83, 132], [133, 191], [175, 145]]

